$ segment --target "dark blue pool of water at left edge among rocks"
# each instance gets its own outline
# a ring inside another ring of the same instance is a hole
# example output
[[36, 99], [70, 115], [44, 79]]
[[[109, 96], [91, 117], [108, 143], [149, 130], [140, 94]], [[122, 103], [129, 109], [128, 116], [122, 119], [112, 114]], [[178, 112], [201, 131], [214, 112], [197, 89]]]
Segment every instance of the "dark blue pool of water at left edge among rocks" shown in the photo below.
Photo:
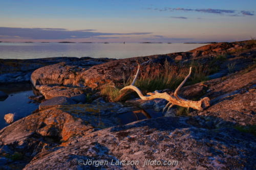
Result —
[[38, 108], [38, 104], [29, 103], [28, 97], [35, 95], [30, 83], [1, 85], [0, 91], [9, 95], [5, 101], [0, 101], [0, 129], [9, 125], [4, 119], [6, 114], [17, 113], [19, 117], [25, 117]]

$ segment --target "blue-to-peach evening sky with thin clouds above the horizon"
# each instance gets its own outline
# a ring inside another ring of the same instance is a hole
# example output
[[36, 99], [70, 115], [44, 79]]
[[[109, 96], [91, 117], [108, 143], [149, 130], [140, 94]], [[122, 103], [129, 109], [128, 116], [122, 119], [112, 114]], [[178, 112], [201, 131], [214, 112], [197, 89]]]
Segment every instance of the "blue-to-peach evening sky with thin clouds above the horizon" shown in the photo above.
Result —
[[255, 0], [0, 0], [3, 42], [232, 42], [256, 37]]

